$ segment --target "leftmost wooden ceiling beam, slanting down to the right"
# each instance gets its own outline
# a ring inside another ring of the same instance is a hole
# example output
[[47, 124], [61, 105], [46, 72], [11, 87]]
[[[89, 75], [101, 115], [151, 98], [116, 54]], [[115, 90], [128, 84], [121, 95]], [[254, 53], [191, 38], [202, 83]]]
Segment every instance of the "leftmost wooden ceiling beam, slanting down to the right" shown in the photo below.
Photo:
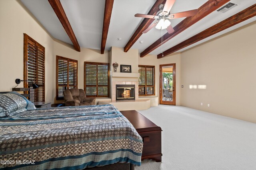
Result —
[[78, 52], [80, 52], [80, 46], [78, 44], [78, 41], [76, 39], [76, 35], [68, 21], [68, 17], [66, 16], [66, 13], [62, 7], [62, 4], [60, 3], [60, 0], [48, 0], [50, 5], [52, 6], [52, 9], [54, 10], [56, 16], [59, 18], [60, 23], [64, 27], [66, 33], [68, 34], [68, 37], [72, 41], [74, 45], [74, 49]]

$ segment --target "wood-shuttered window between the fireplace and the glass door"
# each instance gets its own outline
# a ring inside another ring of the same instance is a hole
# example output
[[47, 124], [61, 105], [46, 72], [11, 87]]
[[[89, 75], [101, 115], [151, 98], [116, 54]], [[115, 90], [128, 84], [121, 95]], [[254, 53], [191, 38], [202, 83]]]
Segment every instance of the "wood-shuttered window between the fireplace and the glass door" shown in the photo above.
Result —
[[155, 95], [155, 66], [139, 65], [139, 96]]

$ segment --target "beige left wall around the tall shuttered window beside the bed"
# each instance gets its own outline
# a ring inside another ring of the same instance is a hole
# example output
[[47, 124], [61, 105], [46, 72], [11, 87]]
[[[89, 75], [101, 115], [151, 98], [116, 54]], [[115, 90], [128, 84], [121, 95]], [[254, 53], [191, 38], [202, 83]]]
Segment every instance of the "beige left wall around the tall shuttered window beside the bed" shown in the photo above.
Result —
[[52, 101], [52, 37], [16, 0], [0, 0], [0, 91], [12, 90], [16, 78], [23, 80], [23, 33], [45, 47], [46, 100]]

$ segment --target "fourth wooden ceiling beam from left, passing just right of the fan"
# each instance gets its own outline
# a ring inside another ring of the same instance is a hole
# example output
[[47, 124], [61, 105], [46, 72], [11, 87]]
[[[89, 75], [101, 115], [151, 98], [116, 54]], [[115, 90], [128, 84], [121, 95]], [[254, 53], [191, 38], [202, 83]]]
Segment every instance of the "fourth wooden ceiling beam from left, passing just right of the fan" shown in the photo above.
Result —
[[[180, 23], [178, 23], [175, 27], [173, 27], [174, 32], [173, 33], [166, 33], [163, 36], [163, 43], [166, 43], [176, 35], [180, 34], [182, 31], [193, 25], [194, 23], [200, 21], [202, 18], [208, 16], [213, 11], [217, 10], [224, 4], [226, 4], [230, 0], [208, 0], [205, 4], [200, 6], [198, 8], [198, 13], [194, 16], [187, 17], [184, 20], [182, 20]], [[146, 48], [142, 53], [140, 53], [140, 57], [145, 57], [147, 54], [149, 54], [151, 51], [154, 51], [158, 47], [161, 46], [160, 37], [158, 40], [156, 40], [152, 45], [150, 45], [148, 48]]]

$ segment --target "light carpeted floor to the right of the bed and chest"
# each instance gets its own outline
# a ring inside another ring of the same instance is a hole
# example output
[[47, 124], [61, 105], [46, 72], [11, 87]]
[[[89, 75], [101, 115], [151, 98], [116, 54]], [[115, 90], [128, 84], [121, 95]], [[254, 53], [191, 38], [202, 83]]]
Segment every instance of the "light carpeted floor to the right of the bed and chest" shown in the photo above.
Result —
[[256, 170], [256, 124], [182, 106], [139, 111], [162, 127], [162, 162], [135, 170]]

